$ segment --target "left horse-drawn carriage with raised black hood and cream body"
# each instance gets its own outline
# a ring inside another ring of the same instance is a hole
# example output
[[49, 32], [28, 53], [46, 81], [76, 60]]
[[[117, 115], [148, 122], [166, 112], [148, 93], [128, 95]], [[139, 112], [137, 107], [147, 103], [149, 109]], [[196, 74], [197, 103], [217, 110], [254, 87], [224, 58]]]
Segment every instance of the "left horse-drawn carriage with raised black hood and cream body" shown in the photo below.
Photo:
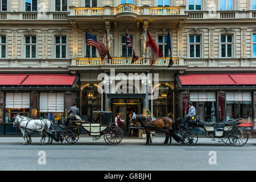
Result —
[[98, 140], [103, 135], [108, 144], [116, 145], [123, 138], [122, 129], [112, 122], [112, 112], [107, 111], [93, 111], [92, 121], [77, 120], [76, 117], [71, 116], [67, 118], [64, 124], [58, 126], [62, 129], [61, 131], [50, 130], [50, 132], [55, 133], [63, 144], [76, 143], [80, 138], [79, 128], [86, 130], [88, 135], [93, 137], [93, 140]]

